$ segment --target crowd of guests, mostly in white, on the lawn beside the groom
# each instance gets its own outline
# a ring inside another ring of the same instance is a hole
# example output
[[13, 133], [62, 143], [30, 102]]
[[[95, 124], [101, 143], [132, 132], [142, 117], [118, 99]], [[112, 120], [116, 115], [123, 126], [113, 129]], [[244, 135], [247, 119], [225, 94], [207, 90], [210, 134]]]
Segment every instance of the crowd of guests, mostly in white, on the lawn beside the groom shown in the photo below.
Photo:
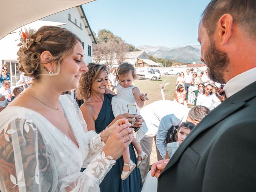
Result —
[[193, 68], [187, 69], [186, 74], [180, 73], [175, 84], [174, 101], [185, 106], [203, 105], [212, 110], [225, 100], [222, 96], [223, 84], [211, 81], [208, 70], [198, 74]]

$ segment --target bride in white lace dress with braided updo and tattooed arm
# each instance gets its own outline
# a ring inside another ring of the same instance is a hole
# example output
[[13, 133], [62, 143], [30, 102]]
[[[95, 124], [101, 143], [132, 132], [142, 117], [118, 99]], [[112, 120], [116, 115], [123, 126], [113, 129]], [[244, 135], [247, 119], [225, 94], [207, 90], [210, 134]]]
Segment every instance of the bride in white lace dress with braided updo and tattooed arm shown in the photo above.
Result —
[[19, 70], [34, 81], [0, 113], [0, 190], [100, 191], [133, 129], [121, 119], [100, 134], [87, 132], [76, 102], [60, 96], [88, 71], [75, 34], [44, 26], [20, 40]]

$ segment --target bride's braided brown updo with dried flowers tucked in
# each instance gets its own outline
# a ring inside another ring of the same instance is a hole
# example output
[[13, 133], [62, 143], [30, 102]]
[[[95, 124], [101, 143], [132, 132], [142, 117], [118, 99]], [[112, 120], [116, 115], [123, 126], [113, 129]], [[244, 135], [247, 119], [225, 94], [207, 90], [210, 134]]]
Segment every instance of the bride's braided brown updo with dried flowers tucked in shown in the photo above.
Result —
[[52, 54], [54, 59], [49, 63], [57, 62], [59, 70], [63, 58], [72, 54], [76, 43], [81, 42], [78, 36], [69, 30], [56, 26], [43, 26], [37, 32], [21, 32], [20, 41], [20, 49], [17, 52], [19, 70], [36, 80], [40, 79], [42, 70], [46, 70], [42, 64], [47, 62], [42, 63], [40, 59], [42, 52], [49, 51]]

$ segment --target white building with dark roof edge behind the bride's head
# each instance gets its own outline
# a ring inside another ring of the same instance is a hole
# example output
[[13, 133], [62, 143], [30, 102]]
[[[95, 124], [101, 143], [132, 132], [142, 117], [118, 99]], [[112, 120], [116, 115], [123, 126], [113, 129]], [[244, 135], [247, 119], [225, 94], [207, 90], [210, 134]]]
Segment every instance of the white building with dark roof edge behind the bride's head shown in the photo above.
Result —
[[[31, 28], [38, 29], [44, 25], [56, 25], [72, 31], [82, 41], [85, 54], [84, 61], [86, 63], [92, 62], [92, 45], [96, 44], [96, 40], [82, 6], [58, 12], [42, 18], [36, 23], [37, 27], [33, 23], [29, 26], [35, 26]], [[17, 71], [18, 56], [16, 54], [18, 52], [18, 41], [16, 41], [19, 39], [18, 31], [15, 30], [0, 40], [0, 64], [7, 64], [9, 66], [8, 73], [10, 73], [12, 79], [12, 86], [15, 86], [19, 80], [19, 72]]]

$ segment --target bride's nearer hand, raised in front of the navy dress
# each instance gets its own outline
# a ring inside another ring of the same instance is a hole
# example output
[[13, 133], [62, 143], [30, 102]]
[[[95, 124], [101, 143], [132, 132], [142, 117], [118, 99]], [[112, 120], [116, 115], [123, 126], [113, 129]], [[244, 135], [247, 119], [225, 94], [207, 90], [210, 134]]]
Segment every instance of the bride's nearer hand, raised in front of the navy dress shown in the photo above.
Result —
[[117, 160], [124, 152], [124, 150], [132, 142], [133, 128], [130, 128], [131, 124], [127, 119], [121, 119], [116, 122], [119, 124], [109, 136], [103, 151], [105, 156], [112, 156], [114, 160]]

